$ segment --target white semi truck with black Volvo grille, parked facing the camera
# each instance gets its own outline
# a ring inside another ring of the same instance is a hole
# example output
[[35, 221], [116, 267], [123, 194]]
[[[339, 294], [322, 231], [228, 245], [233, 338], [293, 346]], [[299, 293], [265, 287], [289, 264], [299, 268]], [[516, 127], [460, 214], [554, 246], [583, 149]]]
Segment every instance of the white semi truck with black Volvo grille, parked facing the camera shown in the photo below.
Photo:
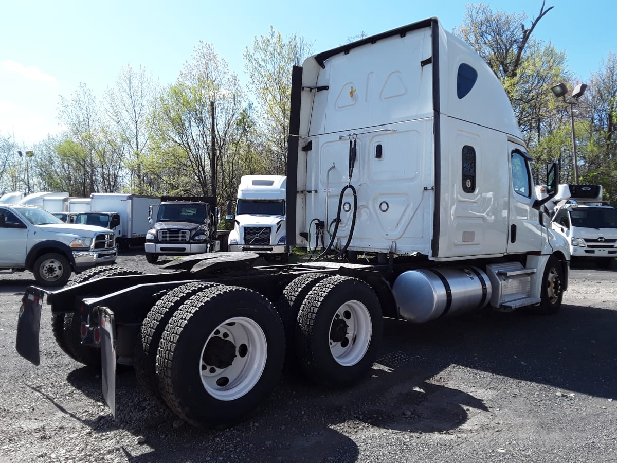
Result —
[[[287, 262], [284, 175], [244, 175], [238, 186], [234, 229], [228, 236], [229, 251], [257, 252]], [[229, 207], [230, 203], [228, 203]]]

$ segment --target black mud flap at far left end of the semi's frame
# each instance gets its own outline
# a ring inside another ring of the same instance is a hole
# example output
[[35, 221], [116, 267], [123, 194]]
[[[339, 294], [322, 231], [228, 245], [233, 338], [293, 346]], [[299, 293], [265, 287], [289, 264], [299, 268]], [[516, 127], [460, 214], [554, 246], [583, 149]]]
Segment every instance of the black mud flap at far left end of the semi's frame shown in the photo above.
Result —
[[39, 357], [39, 332], [41, 330], [41, 309], [45, 291], [36, 286], [28, 286], [23, 293], [22, 306], [17, 320], [17, 353], [35, 365], [41, 363]]

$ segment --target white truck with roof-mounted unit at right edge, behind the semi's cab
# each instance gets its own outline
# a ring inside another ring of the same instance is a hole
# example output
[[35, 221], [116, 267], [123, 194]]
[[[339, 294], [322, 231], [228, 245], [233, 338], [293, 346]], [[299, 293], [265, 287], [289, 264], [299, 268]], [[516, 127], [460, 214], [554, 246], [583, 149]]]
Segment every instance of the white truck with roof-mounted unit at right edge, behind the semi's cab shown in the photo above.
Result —
[[602, 201], [602, 185], [560, 185], [551, 201], [551, 225], [572, 259], [607, 269], [617, 257], [617, 209]]

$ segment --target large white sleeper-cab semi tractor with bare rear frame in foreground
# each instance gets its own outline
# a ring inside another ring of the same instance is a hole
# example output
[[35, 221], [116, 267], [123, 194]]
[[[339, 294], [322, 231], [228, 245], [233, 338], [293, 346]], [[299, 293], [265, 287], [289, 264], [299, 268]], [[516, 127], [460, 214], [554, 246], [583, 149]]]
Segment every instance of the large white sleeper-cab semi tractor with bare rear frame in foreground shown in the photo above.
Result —
[[[436, 18], [294, 67], [289, 122], [286, 244], [312, 261], [211, 252], [162, 265], [168, 273], [31, 286], [17, 351], [39, 363], [43, 301], [52, 317], [81, 307], [81, 343], [70, 329], [57, 338], [102, 365], [114, 413], [116, 365], [131, 363], [153, 401], [223, 425], [262, 402], [285, 361], [326, 387], [353, 386], [378, 355], [382, 317], [560, 309], [568, 243], [543, 207], [558, 167], [538, 199], [499, 80]], [[316, 236], [328, 236], [323, 251]]]

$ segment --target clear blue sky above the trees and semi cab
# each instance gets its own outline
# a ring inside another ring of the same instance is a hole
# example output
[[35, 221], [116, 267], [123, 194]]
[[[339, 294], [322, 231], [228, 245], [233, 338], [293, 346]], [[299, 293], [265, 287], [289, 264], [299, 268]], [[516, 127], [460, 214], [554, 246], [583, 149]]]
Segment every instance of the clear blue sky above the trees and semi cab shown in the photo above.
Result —
[[[471, 2], [471, 3], [479, 3]], [[542, 0], [484, 1], [493, 9], [525, 12], [529, 25]], [[608, 52], [617, 52], [611, 0], [547, 0], [555, 6], [534, 36], [566, 51], [569, 70], [586, 81]], [[144, 65], [161, 85], [173, 83], [193, 49], [212, 43], [246, 83], [242, 52], [270, 25], [298, 33], [320, 52], [368, 35], [437, 16], [445, 29], [460, 25], [465, 2], [389, 0], [252, 2], [197, 0], [6, 0], [0, 28], [0, 135], [20, 148], [60, 130], [59, 95], [85, 83], [97, 99], [127, 64]]]

